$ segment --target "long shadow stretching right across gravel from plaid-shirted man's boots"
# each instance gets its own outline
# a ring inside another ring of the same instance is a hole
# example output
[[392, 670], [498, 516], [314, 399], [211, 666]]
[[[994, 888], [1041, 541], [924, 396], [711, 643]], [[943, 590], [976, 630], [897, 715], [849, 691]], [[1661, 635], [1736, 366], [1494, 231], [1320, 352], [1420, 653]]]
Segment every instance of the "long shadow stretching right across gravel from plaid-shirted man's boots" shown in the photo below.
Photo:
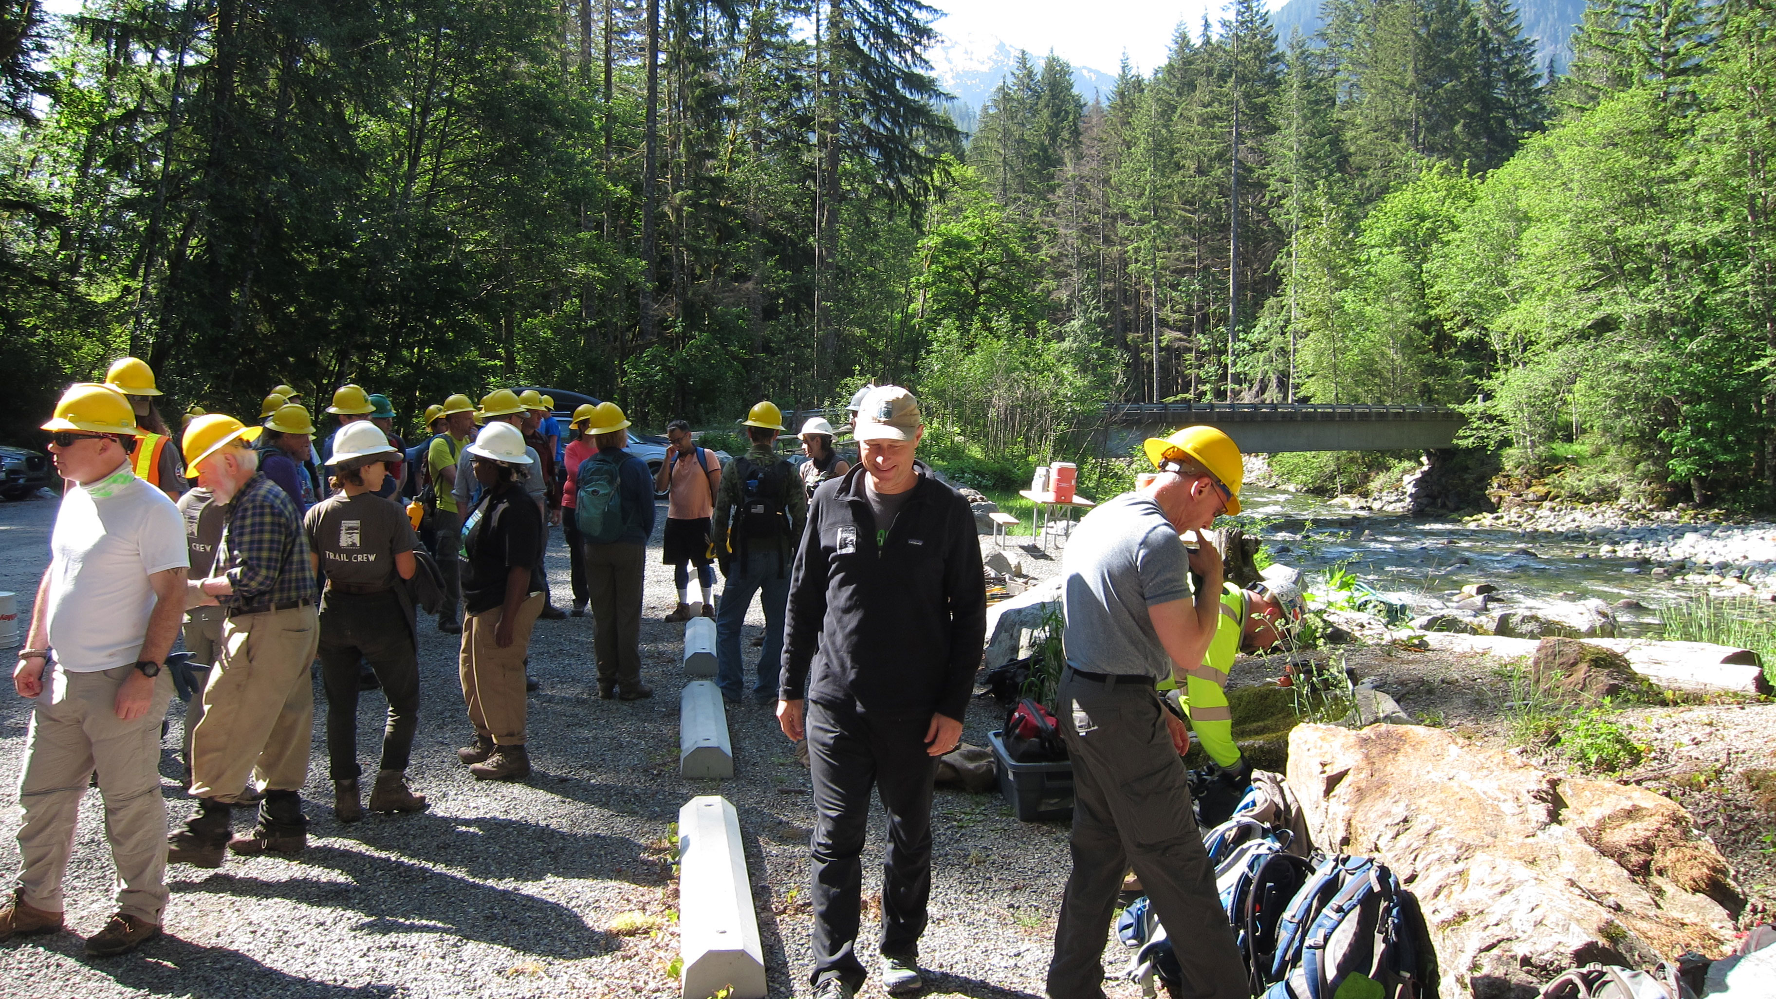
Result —
[[448, 933], [559, 960], [616, 949], [607, 933], [586, 926], [572, 908], [419, 864], [311, 846], [291, 867], [327, 867], [355, 883], [300, 875], [265, 880], [224, 873], [201, 882], [169, 882], [169, 887], [179, 892], [282, 898], [316, 908], [361, 912], [368, 919], [353, 930], [364, 933]]

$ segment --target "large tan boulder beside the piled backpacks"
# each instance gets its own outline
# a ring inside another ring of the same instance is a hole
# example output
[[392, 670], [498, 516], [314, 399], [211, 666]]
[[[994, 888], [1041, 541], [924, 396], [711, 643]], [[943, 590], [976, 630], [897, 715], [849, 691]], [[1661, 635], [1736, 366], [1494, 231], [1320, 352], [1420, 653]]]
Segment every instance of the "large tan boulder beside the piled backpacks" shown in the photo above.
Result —
[[1726, 862], [1643, 787], [1561, 780], [1424, 725], [1298, 725], [1288, 782], [1314, 846], [1373, 855], [1417, 898], [1442, 995], [1524, 999], [1574, 965], [1733, 939]]

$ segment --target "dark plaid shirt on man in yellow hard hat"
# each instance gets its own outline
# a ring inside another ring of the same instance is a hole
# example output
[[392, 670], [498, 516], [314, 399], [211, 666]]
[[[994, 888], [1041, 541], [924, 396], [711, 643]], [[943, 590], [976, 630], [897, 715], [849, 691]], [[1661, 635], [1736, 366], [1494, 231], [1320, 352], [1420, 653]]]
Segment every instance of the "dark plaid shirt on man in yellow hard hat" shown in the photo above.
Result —
[[316, 597], [309, 539], [295, 500], [263, 473], [254, 475], [227, 507], [227, 526], [211, 574], [227, 576], [226, 608], [268, 608]]

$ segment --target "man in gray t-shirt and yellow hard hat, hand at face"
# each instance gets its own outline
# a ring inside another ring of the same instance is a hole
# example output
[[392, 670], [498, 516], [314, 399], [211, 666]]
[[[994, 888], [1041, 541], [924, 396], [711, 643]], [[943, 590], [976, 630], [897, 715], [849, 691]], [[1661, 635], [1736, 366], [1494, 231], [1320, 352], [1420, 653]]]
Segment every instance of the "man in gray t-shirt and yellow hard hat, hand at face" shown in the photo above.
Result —
[[[1080, 521], [1062, 560], [1067, 668], [1057, 691], [1073, 759], [1073, 873], [1048, 994], [1103, 995], [1103, 949], [1122, 875], [1140, 876], [1177, 947], [1181, 994], [1247, 999], [1245, 962], [1190, 807], [1183, 722], [1154, 684], [1201, 667], [1220, 622], [1222, 562], [1202, 531], [1238, 512], [1240, 450], [1211, 427], [1149, 441], [1160, 475]], [[1186, 551], [1181, 531], [1197, 535]], [[1202, 576], [1192, 594], [1190, 572]]]

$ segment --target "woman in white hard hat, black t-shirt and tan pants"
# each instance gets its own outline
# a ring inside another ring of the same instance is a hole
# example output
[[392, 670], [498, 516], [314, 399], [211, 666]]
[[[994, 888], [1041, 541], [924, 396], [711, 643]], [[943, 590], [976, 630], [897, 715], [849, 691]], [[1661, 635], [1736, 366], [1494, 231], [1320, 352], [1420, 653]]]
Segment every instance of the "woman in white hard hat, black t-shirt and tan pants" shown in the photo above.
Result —
[[456, 750], [485, 780], [531, 775], [524, 750], [524, 654], [543, 610], [543, 519], [519, 484], [533, 473], [524, 436], [488, 423], [469, 444], [481, 501], [464, 519], [462, 699], [474, 745]]

